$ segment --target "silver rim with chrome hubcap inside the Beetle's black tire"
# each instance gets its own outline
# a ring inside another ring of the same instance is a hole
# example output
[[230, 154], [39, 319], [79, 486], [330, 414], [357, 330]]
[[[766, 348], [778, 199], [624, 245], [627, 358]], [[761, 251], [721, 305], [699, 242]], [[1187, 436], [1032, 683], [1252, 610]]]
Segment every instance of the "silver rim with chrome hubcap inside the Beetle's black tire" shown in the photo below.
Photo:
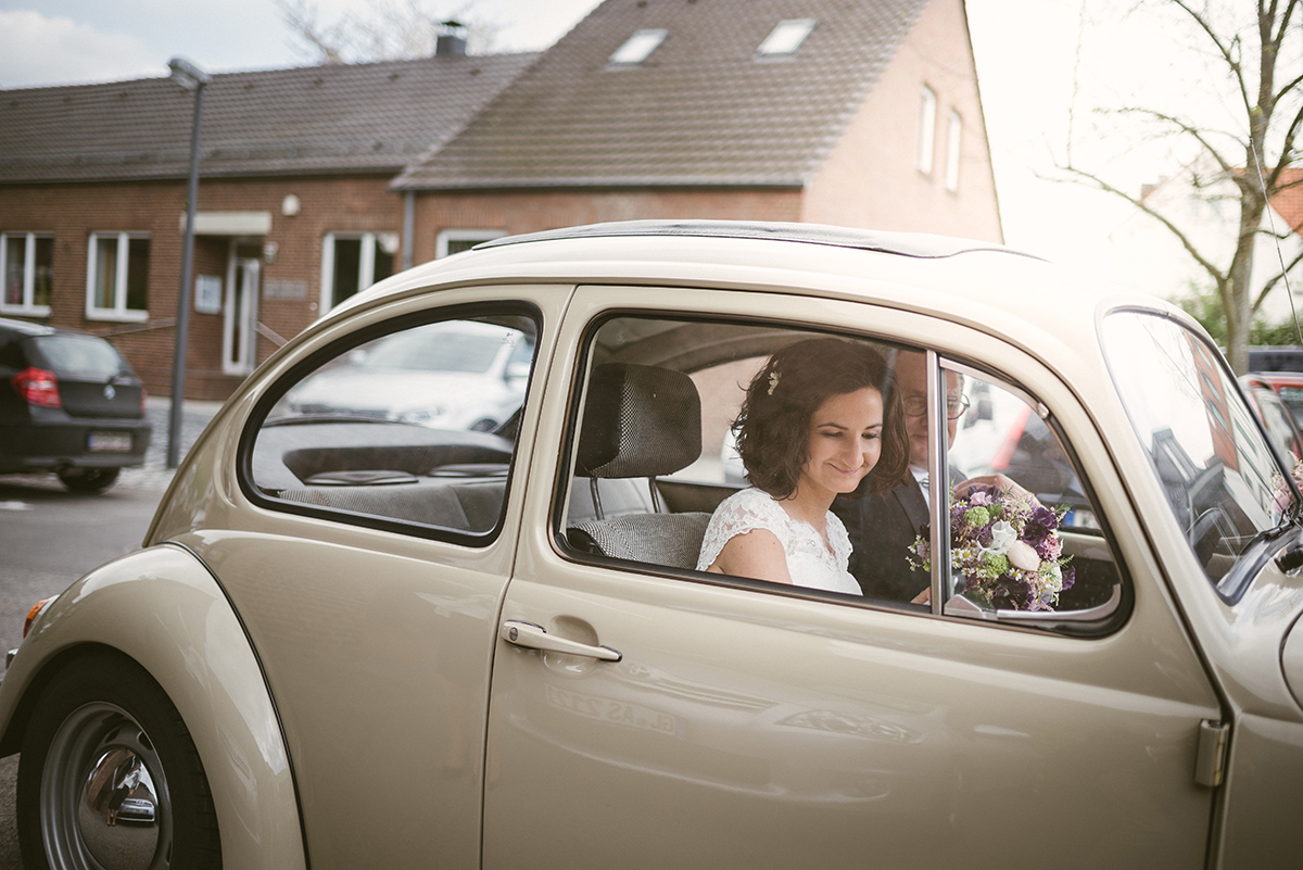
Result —
[[154, 744], [125, 710], [89, 703], [59, 727], [40, 784], [40, 824], [52, 867], [167, 867], [171, 809]]

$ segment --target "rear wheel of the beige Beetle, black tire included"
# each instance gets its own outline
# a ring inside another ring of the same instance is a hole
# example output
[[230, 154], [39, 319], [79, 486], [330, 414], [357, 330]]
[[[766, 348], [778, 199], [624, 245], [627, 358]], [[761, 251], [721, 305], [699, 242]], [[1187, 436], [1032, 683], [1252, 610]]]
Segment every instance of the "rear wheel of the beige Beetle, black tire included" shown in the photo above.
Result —
[[55, 675], [27, 723], [17, 791], [23, 867], [222, 866], [190, 732], [130, 659], [79, 656]]

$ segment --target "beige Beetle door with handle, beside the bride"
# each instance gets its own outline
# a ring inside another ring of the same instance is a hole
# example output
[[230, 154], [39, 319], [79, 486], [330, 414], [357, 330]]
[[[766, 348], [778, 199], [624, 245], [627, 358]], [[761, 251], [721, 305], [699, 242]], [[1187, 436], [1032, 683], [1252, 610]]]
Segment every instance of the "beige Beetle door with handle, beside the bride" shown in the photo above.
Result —
[[[494, 656], [485, 867], [1204, 866], [1217, 698], [1065, 384], [980, 332], [850, 302], [581, 288], [567, 316], [551, 383], [573, 387], [542, 409]], [[784, 330], [1016, 375], [1080, 474], [1072, 546], [1117, 578], [1111, 619], [1011, 626], [577, 547], [590, 367], [741, 358]]]

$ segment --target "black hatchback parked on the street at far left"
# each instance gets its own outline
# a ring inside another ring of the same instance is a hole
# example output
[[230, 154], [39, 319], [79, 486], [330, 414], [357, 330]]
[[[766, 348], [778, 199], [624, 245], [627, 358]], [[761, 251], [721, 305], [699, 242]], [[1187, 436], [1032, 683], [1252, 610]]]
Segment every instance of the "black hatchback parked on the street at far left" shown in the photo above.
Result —
[[104, 339], [0, 318], [0, 473], [50, 470], [102, 492], [142, 465], [145, 387]]

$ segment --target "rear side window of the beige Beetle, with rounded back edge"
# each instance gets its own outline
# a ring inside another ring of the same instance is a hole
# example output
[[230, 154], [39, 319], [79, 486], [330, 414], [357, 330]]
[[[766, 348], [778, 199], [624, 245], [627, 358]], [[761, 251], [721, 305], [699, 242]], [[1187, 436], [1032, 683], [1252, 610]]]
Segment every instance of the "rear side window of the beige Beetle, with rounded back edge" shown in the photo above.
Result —
[[266, 507], [483, 544], [502, 521], [537, 322], [403, 320], [332, 346], [263, 400]]

